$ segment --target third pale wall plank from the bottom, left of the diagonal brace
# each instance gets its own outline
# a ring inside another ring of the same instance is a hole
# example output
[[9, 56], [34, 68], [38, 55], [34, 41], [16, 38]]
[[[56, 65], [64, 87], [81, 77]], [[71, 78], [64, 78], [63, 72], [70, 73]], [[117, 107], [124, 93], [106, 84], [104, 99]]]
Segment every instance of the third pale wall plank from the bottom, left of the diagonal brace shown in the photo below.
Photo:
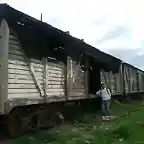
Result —
[[34, 89], [36, 88], [36, 85], [33, 83], [29, 84], [8, 84], [9, 89]]

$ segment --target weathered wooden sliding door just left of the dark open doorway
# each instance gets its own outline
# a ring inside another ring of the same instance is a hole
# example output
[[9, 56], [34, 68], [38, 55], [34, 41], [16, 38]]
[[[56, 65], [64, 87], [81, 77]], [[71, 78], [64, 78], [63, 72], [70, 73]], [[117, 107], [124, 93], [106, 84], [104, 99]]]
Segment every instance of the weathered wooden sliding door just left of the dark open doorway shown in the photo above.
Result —
[[82, 70], [80, 60], [67, 58], [67, 90], [68, 100], [86, 98], [85, 72]]

